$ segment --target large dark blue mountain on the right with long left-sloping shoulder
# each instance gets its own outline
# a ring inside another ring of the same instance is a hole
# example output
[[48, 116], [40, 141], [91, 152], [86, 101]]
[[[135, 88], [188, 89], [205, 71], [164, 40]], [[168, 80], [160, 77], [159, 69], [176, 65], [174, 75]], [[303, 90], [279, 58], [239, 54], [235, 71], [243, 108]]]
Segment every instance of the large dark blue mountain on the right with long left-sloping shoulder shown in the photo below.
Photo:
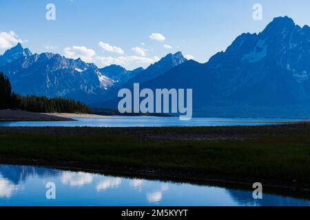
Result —
[[310, 28], [278, 17], [209, 62], [185, 62], [141, 89], [191, 88], [196, 116], [310, 117], [309, 61]]

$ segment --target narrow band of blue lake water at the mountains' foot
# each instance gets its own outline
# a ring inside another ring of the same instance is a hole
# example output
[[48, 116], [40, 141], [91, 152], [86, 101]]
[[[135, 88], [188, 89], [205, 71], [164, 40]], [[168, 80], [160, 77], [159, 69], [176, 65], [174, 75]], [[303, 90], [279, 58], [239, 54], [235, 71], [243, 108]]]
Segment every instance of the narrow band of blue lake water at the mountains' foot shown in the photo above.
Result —
[[115, 116], [109, 118], [75, 118], [74, 122], [0, 122], [0, 126], [98, 126], [98, 127], [133, 127], [133, 126], [259, 126], [280, 122], [306, 120], [279, 118], [193, 118], [180, 121], [177, 117], [141, 117]]

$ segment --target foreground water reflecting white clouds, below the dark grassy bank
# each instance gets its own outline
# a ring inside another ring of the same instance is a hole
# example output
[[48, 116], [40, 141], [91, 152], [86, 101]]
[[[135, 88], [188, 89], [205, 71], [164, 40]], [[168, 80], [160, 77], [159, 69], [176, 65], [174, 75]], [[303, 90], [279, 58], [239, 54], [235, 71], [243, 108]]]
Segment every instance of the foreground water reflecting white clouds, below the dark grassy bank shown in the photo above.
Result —
[[[46, 199], [46, 184], [56, 199]], [[0, 206], [309, 206], [307, 199], [252, 191], [0, 165]]]

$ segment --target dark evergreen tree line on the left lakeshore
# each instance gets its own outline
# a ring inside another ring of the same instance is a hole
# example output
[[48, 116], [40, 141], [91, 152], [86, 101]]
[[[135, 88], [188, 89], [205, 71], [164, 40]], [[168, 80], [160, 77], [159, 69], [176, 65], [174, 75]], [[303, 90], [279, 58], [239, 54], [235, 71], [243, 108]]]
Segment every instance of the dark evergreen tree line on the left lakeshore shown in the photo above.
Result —
[[90, 108], [79, 101], [14, 94], [10, 80], [3, 72], [0, 72], [0, 109], [20, 109], [42, 113], [90, 113]]

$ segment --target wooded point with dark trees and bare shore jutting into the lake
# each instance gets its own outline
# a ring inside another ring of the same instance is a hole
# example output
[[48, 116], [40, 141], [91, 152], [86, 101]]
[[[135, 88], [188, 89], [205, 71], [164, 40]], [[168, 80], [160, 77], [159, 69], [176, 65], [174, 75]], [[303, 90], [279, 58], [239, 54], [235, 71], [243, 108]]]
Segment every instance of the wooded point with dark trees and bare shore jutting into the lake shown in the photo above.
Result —
[[[21, 96], [12, 92], [10, 80], [3, 72], [0, 72], [0, 112], [1, 121], [59, 121], [59, 114], [65, 115], [65, 118], [81, 118], [81, 115], [87, 114], [89, 118], [103, 118], [102, 116], [161, 116], [172, 117], [165, 113], [119, 113], [117, 109], [91, 109], [86, 104], [65, 98], [48, 98], [45, 96]], [[8, 109], [12, 111], [9, 112]], [[18, 114], [20, 113], [20, 115]], [[39, 113], [39, 114], [34, 114]], [[43, 113], [48, 113], [47, 116]], [[57, 115], [58, 114], [58, 115]], [[71, 114], [71, 115], [70, 115]], [[94, 116], [96, 115], [96, 117]], [[86, 115], [85, 115], [86, 116]], [[68, 119], [63, 119], [67, 121]]]

